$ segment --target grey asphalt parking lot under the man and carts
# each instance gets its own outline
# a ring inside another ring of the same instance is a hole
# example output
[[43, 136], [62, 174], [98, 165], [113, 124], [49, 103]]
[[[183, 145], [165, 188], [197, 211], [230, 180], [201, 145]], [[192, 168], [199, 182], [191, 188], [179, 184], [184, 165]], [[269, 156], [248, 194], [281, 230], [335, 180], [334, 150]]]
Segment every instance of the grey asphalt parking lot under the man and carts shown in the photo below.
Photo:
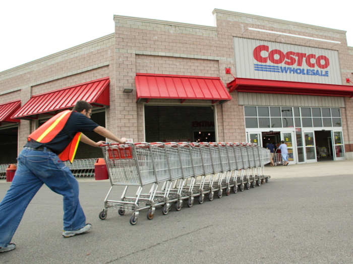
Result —
[[[0, 184], [0, 199], [10, 184]], [[62, 197], [43, 186], [0, 263], [353, 263], [352, 175], [270, 179], [153, 220], [98, 218], [107, 181], [80, 181], [89, 233], [62, 236]], [[119, 199], [117, 187], [111, 198]]]

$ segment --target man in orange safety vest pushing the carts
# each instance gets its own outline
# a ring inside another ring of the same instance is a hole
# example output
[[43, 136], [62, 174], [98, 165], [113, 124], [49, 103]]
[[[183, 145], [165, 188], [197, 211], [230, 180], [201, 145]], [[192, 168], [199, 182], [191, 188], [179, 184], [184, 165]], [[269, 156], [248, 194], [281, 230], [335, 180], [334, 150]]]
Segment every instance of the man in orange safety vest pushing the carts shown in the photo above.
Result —
[[119, 143], [127, 141], [90, 120], [91, 115], [92, 106], [78, 101], [73, 111], [55, 115], [28, 136], [17, 158], [14, 180], [0, 203], [0, 252], [16, 248], [11, 239], [28, 204], [43, 184], [64, 196], [64, 237], [82, 234], [91, 228], [79, 202], [78, 182], [63, 161], [73, 161], [79, 141], [93, 147], [104, 144], [104, 141], [92, 141], [82, 132], [94, 131]]

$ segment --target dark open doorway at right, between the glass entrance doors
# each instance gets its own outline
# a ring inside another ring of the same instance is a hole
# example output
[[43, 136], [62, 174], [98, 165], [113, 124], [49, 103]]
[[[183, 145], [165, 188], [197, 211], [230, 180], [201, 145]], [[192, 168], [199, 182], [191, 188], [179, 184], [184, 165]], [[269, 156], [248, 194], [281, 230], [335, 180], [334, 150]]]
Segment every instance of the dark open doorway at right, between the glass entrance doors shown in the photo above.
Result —
[[317, 161], [334, 160], [331, 130], [315, 131]]

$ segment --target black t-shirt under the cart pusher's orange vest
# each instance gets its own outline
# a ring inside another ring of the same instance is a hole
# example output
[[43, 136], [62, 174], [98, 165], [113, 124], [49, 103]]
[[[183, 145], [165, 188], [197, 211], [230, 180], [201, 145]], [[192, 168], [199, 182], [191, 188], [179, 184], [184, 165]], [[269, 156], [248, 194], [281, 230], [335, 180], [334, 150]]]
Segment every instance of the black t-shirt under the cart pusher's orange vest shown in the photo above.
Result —
[[48, 147], [55, 154], [60, 154], [70, 144], [76, 133], [92, 132], [96, 127], [98, 127], [98, 125], [95, 122], [86, 117], [84, 114], [75, 111], [71, 113], [68, 121], [64, 126], [64, 129], [60, 131], [50, 142], [39, 143], [31, 139], [26, 143], [25, 147]]

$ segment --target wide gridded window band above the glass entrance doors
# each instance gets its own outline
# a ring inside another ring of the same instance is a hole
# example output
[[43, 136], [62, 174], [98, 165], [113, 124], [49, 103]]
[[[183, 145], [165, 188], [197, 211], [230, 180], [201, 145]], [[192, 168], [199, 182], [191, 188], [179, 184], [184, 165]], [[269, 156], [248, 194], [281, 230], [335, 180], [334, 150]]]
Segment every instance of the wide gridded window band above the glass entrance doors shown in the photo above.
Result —
[[339, 108], [245, 106], [246, 128], [341, 127]]

